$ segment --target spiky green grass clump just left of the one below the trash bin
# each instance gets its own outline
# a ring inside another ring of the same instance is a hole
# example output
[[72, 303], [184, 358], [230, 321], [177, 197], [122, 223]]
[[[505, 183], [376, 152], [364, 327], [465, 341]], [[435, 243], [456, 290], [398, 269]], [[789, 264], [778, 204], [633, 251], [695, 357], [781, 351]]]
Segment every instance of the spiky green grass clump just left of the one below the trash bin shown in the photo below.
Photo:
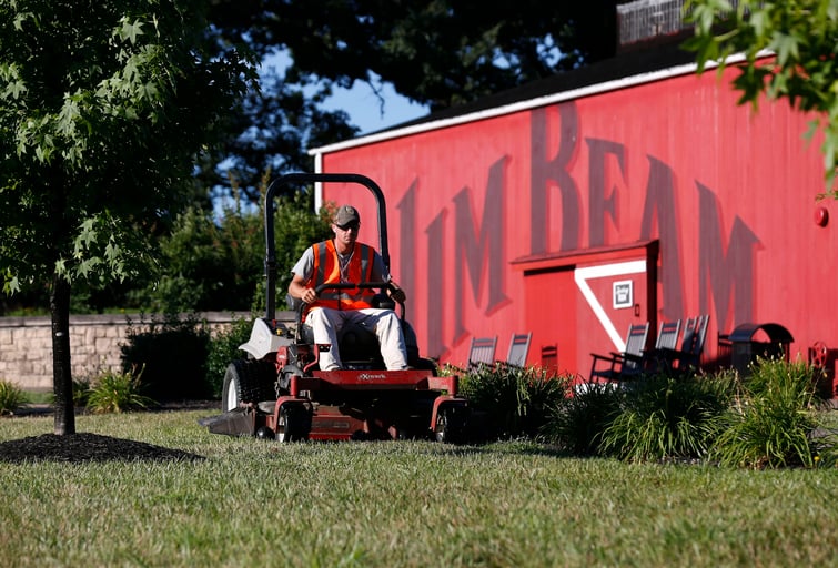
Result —
[[703, 458], [721, 428], [730, 382], [718, 377], [643, 377], [603, 432], [602, 449], [628, 462]]

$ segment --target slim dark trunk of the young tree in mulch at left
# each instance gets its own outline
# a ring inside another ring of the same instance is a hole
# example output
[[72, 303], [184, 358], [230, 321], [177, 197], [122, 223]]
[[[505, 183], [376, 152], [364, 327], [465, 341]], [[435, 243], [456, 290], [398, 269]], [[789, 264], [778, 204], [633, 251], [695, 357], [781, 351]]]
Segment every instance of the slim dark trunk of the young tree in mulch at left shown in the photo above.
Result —
[[52, 384], [55, 394], [55, 434], [75, 434], [73, 378], [70, 371], [70, 283], [55, 274], [50, 291], [52, 315]]

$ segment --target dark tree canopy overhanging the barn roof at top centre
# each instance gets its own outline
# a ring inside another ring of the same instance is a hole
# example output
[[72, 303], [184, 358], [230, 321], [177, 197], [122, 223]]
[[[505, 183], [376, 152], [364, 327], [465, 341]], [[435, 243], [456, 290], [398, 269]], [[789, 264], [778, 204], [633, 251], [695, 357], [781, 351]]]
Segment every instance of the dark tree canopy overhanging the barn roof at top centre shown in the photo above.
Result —
[[436, 110], [612, 57], [617, 3], [252, 0], [221, 26], [260, 53], [289, 49], [302, 74], [350, 87], [375, 73]]

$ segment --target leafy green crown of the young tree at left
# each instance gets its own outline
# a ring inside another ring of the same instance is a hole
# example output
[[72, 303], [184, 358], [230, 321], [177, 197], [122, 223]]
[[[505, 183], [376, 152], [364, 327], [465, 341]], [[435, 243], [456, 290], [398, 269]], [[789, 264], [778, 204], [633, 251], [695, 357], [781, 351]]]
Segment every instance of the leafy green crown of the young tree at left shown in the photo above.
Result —
[[203, 2], [0, 3], [0, 271], [125, 278], [182, 203], [195, 155], [246, 90], [206, 51]]

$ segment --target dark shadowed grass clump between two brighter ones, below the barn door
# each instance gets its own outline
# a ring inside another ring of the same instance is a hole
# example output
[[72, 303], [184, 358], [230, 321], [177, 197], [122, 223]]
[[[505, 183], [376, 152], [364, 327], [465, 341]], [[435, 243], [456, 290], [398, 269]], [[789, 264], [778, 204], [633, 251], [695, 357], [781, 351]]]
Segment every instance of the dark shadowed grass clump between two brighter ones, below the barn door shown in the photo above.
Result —
[[619, 414], [624, 395], [613, 385], [585, 384], [553, 408], [546, 440], [576, 456], [602, 455], [603, 432]]

